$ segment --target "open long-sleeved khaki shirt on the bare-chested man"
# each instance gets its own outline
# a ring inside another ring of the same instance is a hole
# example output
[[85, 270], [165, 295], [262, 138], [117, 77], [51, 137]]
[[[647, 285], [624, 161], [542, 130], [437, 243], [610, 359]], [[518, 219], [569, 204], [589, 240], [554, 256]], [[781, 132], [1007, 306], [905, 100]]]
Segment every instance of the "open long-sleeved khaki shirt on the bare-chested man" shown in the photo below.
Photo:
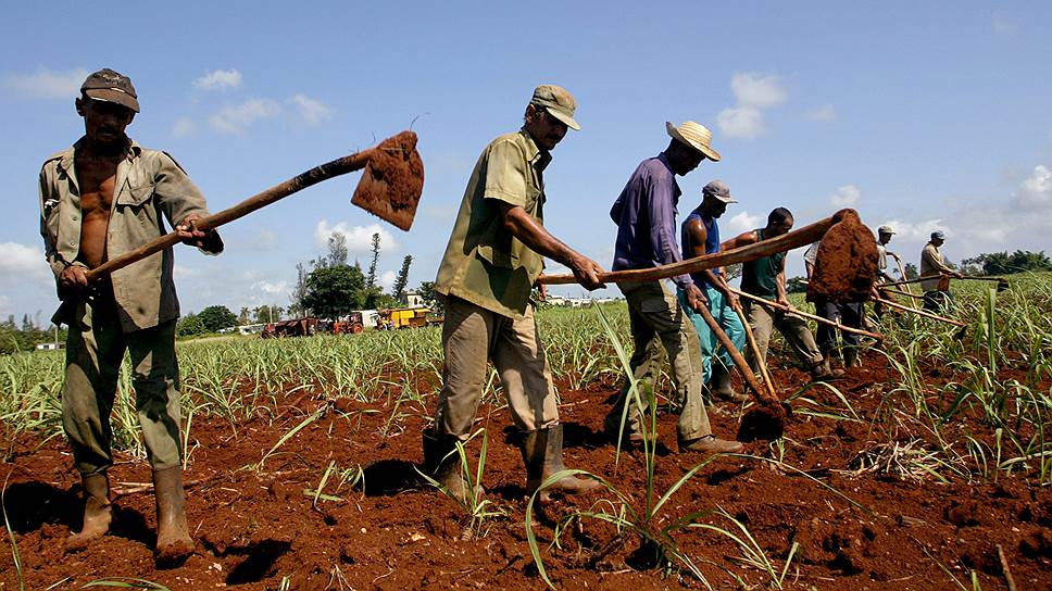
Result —
[[[55, 282], [65, 267], [76, 263], [80, 252], [80, 191], [74, 167], [82, 138], [68, 150], [45, 161], [40, 169], [40, 235], [45, 257], [54, 272]], [[113, 204], [107, 228], [107, 260], [166, 234], [170, 225], [190, 214], [209, 214], [204, 197], [186, 172], [167, 153], [148, 150], [129, 141], [117, 164]], [[163, 216], [163, 218], [162, 218]], [[173, 251], [165, 249], [110, 275], [121, 328], [125, 332], [150, 328], [179, 317], [179, 300], [172, 278]], [[70, 323], [59, 309], [52, 322]]]

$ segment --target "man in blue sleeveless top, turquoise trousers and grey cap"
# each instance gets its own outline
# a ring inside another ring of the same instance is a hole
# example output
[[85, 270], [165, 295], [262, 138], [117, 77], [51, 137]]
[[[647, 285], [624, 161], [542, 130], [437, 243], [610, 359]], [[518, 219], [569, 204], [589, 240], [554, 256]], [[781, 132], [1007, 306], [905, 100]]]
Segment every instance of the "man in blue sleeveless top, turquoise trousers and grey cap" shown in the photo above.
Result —
[[[730, 198], [730, 188], [723, 180], [713, 180], [705, 185], [701, 196], [701, 204], [684, 219], [681, 229], [684, 259], [719, 252], [719, 224], [716, 219], [727, 211], [728, 203], [737, 203]], [[741, 326], [741, 318], [735, 312], [741, 304], [738, 302], [738, 296], [730, 291], [723, 268], [692, 273], [690, 278], [709, 300], [712, 317], [719, 323], [719, 327], [730, 338], [735, 348], [739, 351], [744, 349], [746, 329]], [[714, 398], [743, 402], [747, 397], [741, 392], [735, 392], [730, 387], [730, 374], [735, 367], [730, 353], [721, 349], [719, 356], [713, 359], [718, 345], [715, 332], [709, 328], [701, 314], [687, 305], [686, 292], [682, 289], [677, 291], [679, 305], [694, 325], [694, 330], [698, 331], [698, 338], [701, 340], [702, 380], [707, 382], [709, 391]]]

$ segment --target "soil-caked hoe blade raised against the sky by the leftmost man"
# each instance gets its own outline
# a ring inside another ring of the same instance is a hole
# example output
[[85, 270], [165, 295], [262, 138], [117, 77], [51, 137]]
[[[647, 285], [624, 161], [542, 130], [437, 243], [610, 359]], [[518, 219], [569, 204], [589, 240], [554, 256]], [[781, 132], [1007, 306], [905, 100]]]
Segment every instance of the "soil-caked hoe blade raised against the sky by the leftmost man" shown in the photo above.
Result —
[[370, 156], [351, 203], [409, 230], [424, 190], [424, 162], [416, 151], [416, 134], [387, 138]]

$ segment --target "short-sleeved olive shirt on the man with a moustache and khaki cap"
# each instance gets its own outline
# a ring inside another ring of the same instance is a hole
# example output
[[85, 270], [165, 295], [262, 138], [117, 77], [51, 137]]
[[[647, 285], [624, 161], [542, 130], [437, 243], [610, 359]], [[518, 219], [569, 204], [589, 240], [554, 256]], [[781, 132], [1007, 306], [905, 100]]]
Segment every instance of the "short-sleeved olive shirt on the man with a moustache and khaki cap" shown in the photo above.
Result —
[[544, 223], [543, 172], [551, 155], [525, 128], [483, 150], [464, 191], [435, 290], [522, 319], [543, 259], [504, 229], [501, 205], [518, 205]]

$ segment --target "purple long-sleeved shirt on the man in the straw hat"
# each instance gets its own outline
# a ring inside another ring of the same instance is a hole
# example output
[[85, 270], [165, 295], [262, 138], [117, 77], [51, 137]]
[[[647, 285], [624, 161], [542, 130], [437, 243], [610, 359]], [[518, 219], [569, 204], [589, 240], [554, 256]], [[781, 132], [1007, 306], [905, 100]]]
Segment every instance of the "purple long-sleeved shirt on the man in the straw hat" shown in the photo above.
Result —
[[[676, 174], [664, 152], [636, 167], [610, 210], [611, 219], [617, 224], [614, 271], [682, 261], [676, 242], [676, 205], [680, 194]], [[673, 281], [680, 288], [693, 284], [686, 274], [673, 277]]]

